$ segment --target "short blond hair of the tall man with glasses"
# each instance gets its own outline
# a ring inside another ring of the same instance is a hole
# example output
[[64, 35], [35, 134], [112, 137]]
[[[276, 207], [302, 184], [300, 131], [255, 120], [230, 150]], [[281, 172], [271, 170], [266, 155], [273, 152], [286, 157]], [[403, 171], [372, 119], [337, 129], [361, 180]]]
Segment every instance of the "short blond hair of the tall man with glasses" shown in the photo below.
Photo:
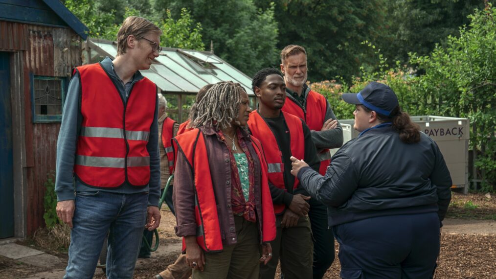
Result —
[[142, 39], [148, 33], [162, 34], [162, 30], [150, 20], [140, 16], [128, 16], [124, 19], [117, 33], [117, 55], [123, 55], [127, 50], [127, 37], [133, 35], [136, 40]]

